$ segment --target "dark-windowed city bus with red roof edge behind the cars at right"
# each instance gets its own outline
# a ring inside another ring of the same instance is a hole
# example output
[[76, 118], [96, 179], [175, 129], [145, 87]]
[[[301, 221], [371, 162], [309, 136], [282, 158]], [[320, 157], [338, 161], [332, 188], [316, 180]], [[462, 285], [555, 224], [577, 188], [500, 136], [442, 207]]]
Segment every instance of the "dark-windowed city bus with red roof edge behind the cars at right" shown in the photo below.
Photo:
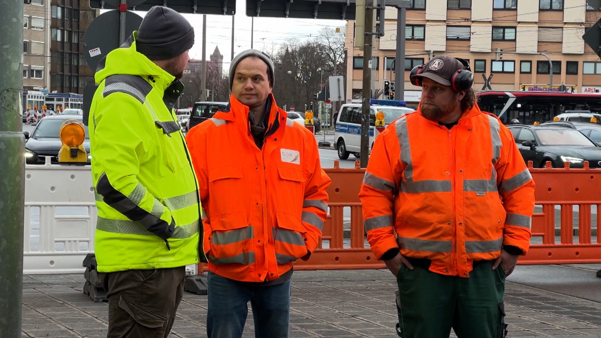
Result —
[[504, 124], [512, 119], [522, 124], [552, 121], [566, 110], [601, 112], [601, 94], [595, 93], [481, 91], [477, 96], [480, 110], [495, 113]]

